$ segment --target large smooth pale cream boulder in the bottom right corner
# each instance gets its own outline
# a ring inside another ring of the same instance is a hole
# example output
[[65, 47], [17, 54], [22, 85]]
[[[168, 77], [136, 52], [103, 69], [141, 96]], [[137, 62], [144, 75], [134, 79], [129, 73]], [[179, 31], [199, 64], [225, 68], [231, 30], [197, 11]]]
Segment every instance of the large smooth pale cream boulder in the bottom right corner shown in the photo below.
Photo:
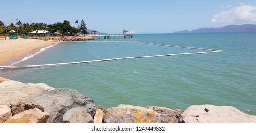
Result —
[[231, 106], [193, 105], [182, 114], [185, 123], [256, 123], [256, 116]]

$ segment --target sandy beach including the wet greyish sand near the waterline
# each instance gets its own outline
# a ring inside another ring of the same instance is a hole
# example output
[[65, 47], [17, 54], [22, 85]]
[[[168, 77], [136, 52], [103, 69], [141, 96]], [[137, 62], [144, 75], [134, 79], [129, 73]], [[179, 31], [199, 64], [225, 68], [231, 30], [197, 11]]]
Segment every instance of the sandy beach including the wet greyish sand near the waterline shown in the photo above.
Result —
[[40, 52], [43, 48], [57, 44], [58, 41], [46, 41], [38, 39], [16, 40], [0, 39], [0, 66], [9, 66], [26, 57]]

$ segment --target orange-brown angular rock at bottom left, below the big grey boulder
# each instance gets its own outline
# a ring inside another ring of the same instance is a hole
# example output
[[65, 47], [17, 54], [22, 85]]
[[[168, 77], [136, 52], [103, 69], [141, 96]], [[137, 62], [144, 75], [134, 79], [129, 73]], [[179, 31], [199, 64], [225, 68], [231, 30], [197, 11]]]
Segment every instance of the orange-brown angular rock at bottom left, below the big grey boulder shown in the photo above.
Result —
[[48, 113], [34, 108], [12, 116], [5, 123], [45, 123], [48, 118]]

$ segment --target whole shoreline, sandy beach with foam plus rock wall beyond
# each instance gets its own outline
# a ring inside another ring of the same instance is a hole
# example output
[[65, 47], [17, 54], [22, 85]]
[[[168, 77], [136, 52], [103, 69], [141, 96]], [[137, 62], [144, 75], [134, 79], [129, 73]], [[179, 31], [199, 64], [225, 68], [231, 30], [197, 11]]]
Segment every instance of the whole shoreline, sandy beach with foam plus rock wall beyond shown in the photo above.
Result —
[[10, 66], [27, 60], [59, 42], [84, 40], [94, 40], [94, 38], [89, 36], [30, 37], [13, 40], [0, 38], [0, 66]]

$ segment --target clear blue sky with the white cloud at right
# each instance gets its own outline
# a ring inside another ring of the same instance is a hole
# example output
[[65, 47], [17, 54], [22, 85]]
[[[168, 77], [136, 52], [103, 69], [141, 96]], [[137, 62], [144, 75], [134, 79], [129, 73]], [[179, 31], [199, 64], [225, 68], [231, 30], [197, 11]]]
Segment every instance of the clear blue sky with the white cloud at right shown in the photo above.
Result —
[[[5, 12], [5, 13], [4, 13]], [[173, 33], [203, 27], [256, 24], [256, 0], [2, 0], [0, 21], [53, 24], [109, 34]]]

